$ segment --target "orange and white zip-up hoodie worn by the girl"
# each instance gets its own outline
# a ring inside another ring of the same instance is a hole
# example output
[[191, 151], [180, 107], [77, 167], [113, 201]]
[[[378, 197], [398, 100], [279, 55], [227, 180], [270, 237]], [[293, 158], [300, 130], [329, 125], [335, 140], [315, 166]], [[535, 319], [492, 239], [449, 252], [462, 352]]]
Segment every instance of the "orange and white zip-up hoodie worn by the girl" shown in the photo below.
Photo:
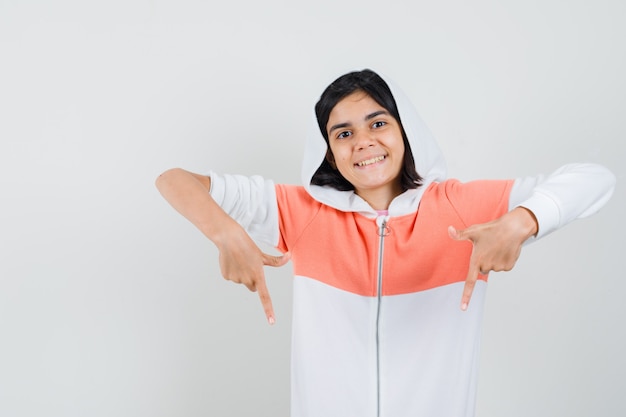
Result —
[[381, 215], [352, 191], [310, 185], [326, 154], [312, 121], [303, 186], [211, 173], [211, 195], [258, 241], [290, 251], [294, 270], [292, 417], [474, 415], [487, 276], [459, 308], [472, 246], [448, 237], [517, 206], [536, 240], [596, 212], [615, 178], [593, 164], [549, 176], [446, 180], [432, 135], [389, 84], [414, 152], [418, 189]]

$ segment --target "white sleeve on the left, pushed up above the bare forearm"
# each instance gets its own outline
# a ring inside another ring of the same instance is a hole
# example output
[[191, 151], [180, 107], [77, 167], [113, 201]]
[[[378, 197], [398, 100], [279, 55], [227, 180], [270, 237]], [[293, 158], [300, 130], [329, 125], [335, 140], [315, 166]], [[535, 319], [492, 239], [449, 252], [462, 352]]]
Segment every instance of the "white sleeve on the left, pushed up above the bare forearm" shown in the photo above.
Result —
[[276, 246], [278, 204], [274, 182], [258, 175], [219, 175], [210, 172], [211, 197], [252, 239]]

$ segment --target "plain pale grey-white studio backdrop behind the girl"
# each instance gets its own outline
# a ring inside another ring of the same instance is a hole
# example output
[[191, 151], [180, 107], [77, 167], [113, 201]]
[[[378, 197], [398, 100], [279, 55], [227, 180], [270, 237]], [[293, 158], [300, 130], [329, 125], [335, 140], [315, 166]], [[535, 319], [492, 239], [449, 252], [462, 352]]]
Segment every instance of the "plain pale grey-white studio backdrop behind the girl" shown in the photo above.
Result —
[[365, 67], [451, 177], [617, 175], [491, 275], [477, 413], [626, 415], [625, 20], [622, 0], [0, 0], [0, 416], [287, 416], [291, 266], [266, 271], [270, 327], [154, 180], [300, 183], [314, 102]]

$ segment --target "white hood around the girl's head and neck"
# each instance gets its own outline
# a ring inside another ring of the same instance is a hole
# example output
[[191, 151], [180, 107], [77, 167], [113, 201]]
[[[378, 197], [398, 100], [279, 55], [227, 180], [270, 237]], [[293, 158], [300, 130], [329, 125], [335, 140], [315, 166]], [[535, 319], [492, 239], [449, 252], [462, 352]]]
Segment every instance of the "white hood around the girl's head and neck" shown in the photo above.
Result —
[[[446, 178], [446, 163], [435, 138], [419, 117], [408, 97], [383, 74], [396, 101], [402, 127], [407, 135], [415, 160], [415, 169], [424, 179], [417, 189], [407, 190], [397, 196], [389, 206], [390, 216], [399, 216], [417, 210], [420, 199], [428, 185]], [[327, 145], [322, 136], [315, 111], [312, 112], [302, 163], [302, 182], [307, 192], [317, 201], [341, 211], [359, 212], [374, 217], [376, 211], [354, 191], [339, 191], [328, 186], [311, 185], [311, 178], [326, 156]]]

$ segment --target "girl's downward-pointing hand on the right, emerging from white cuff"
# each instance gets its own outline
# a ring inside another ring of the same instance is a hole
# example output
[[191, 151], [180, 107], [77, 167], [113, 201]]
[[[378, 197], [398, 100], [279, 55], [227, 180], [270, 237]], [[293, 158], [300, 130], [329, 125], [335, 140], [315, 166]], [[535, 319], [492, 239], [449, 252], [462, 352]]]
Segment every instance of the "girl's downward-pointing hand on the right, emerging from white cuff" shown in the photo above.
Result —
[[474, 245], [461, 310], [467, 310], [478, 275], [486, 275], [489, 271], [510, 271], [519, 258], [524, 242], [537, 231], [537, 219], [524, 207], [516, 207], [496, 220], [475, 224], [464, 230], [448, 227], [452, 239], [469, 240]]

